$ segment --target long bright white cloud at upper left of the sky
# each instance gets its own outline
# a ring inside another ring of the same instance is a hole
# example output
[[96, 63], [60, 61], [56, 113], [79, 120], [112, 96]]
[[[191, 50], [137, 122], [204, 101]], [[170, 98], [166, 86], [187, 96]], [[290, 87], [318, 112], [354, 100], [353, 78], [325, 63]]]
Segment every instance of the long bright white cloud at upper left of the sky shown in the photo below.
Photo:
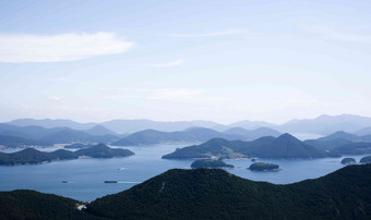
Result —
[[0, 34], [0, 62], [75, 61], [128, 51], [134, 42], [112, 33], [26, 35]]

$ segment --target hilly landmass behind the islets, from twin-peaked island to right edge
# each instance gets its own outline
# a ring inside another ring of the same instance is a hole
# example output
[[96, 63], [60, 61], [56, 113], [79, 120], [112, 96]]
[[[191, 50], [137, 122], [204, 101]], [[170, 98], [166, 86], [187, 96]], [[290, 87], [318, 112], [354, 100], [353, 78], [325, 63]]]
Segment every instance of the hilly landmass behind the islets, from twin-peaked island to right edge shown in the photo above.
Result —
[[189, 158], [321, 158], [371, 154], [371, 135], [336, 132], [318, 139], [301, 142], [290, 134], [263, 136], [252, 142], [213, 138], [201, 145], [177, 149], [164, 159]]

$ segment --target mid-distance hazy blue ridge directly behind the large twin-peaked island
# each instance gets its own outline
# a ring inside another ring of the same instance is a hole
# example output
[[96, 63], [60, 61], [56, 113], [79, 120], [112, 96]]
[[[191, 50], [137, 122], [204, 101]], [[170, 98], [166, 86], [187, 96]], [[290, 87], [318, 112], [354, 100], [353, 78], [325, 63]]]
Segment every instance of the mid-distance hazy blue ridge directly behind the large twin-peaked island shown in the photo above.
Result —
[[219, 137], [225, 139], [255, 139], [262, 136], [278, 136], [279, 132], [266, 127], [248, 131], [240, 127], [234, 127], [226, 132], [217, 132], [204, 127], [191, 127], [181, 132], [159, 132], [155, 130], [145, 130], [123, 137], [112, 145], [131, 146], [131, 145], [155, 145], [169, 143], [198, 143]]

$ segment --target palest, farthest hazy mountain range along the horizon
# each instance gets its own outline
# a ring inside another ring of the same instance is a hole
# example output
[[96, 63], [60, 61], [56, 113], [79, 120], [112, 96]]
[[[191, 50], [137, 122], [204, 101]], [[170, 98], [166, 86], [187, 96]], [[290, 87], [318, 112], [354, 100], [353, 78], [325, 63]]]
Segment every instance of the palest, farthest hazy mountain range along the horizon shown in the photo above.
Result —
[[[177, 121], [177, 122], [158, 122], [151, 120], [111, 120], [103, 123], [77, 123], [71, 120], [35, 120], [17, 119], [7, 122], [10, 125], [17, 126], [41, 126], [45, 129], [70, 127], [72, 130], [89, 131], [94, 126], [101, 125], [115, 133], [135, 133], [144, 130], [157, 130], [161, 132], [183, 131], [194, 126], [213, 129], [219, 132], [231, 127], [241, 127], [244, 130], [255, 130], [259, 127], [268, 127], [282, 133], [312, 133], [328, 135], [337, 131], [345, 131], [359, 135], [371, 134], [371, 118], [359, 117], [354, 114], [340, 115], [320, 115], [315, 119], [291, 120], [284, 124], [272, 124], [264, 121], [240, 121], [231, 124], [219, 124], [211, 121]], [[94, 131], [91, 134], [95, 134]], [[101, 133], [101, 131], [99, 131]], [[107, 133], [109, 134], [109, 133]], [[96, 135], [96, 134], [95, 134]]]

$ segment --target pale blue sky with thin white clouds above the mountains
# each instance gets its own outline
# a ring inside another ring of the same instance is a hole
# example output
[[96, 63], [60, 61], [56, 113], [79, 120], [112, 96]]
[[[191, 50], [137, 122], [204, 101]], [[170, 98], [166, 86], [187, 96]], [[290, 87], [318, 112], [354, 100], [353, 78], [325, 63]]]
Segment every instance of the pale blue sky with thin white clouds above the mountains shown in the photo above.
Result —
[[0, 121], [371, 117], [371, 1], [0, 0]]

